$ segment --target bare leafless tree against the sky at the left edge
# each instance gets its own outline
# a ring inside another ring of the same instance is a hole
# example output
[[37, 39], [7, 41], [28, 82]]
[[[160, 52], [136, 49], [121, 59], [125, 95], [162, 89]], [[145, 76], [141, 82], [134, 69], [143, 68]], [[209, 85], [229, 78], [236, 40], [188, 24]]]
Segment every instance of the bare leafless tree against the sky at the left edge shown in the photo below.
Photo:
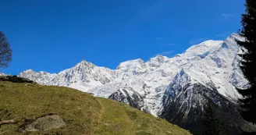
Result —
[[12, 61], [12, 48], [9, 46], [9, 42], [5, 37], [5, 34], [0, 31], [0, 68], [6, 68], [9, 66], [9, 62]]

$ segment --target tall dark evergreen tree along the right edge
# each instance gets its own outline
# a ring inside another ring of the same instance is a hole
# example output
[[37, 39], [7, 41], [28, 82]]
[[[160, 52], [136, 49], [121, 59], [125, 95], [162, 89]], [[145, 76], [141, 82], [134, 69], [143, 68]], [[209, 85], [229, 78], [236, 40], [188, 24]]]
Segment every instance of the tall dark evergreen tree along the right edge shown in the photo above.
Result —
[[245, 37], [245, 41], [237, 41], [243, 47], [244, 54], [240, 69], [245, 78], [249, 81], [250, 86], [246, 89], [236, 88], [244, 96], [240, 99], [240, 114], [245, 120], [256, 123], [256, 1], [246, 0], [246, 12], [242, 14], [242, 29], [239, 34]]

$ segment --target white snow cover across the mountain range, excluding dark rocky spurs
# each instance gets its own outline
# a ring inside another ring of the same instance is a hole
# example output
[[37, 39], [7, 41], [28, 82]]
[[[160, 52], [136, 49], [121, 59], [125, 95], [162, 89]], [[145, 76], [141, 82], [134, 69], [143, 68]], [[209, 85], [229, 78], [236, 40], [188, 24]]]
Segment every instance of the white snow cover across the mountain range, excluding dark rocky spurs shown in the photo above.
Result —
[[[193, 45], [173, 58], [157, 55], [148, 62], [134, 59], [120, 63], [114, 70], [83, 60], [58, 74], [27, 70], [19, 76], [45, 85], [73, 87], [104, 98], [116, 92], [116, 95], [122, 94], [127, 98], [127, 90], [133, 90], [130, 91], [130, 97], [134, 93], [140, 94], [142, 106], [152, 115], [157, 115], [161, 111], [169, 83], [172, 83], [177, 73], [182, 73], [181, 69], [192, 78], [190, 83], [215, 88], [219, 94], [231, 100], [239, 98], [240, 94], [234, 86], [245, 87], [247, 80], [239, 68], [237, 54], [240, 53], [240, 47], [235, 39], [244, 40], [237, 34], [231, 34], [225, 41], [204, 41]], [[184, 80], [183, 83], [185, 85], [188, 82]]]

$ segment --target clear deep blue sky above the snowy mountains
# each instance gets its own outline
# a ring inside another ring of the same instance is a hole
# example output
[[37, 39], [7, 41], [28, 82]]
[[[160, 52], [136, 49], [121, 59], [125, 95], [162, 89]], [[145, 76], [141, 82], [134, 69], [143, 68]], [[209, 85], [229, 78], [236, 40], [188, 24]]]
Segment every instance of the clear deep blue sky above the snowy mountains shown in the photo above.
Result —
[[85, 59], [116, 69], [172, 56], [240, 28], [241, 0], [0, 0], [0, 30], [13, 50], [4, 73], [58, 73]]

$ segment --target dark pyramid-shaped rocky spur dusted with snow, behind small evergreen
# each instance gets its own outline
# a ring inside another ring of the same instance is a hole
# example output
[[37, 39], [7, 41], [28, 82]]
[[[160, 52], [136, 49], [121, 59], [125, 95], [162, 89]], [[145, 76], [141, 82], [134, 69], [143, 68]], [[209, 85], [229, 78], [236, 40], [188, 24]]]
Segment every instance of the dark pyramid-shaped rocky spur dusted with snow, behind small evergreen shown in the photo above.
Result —
[[[185, 129], [190, 129], [194, 134], [201, 134], [204, 129], [204, 108], [208, 99], [215, 106], [217, 118], [225, 121], [226, 133], [239, 134], [240, 127], [244, 126], [244, 120], [237, 111], [237, 105], [218, 93], [215, 87], [211, 89], [201, 83], [193, 83], [187, 73], [182, 70], [172, 83], [169, 84], [162, 101], [162, 111], [159, 117], [170, 123], [175, 123]], [[187, 83], [183, 83], [187, 82]], [[210, 86], [209, 86], [210, 87]]]

